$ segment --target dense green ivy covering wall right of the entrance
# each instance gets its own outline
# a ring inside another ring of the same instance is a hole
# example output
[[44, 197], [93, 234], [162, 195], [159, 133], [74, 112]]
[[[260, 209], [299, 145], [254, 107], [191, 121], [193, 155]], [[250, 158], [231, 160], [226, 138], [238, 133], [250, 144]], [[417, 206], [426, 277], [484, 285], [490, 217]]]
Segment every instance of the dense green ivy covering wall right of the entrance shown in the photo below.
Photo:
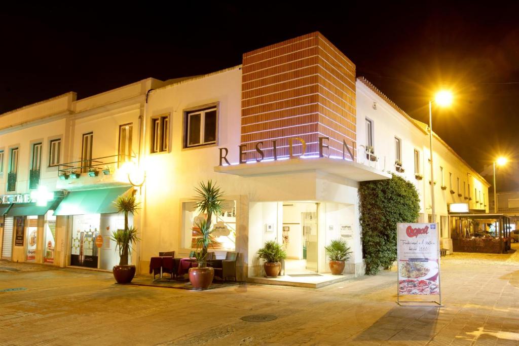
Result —
[[416, 222], [420, 198], [413, 183], [392, 173], [391, 179], [362, 182], [359, 200], [366, 274], [376, 275], [397, 259], [397, 223]]

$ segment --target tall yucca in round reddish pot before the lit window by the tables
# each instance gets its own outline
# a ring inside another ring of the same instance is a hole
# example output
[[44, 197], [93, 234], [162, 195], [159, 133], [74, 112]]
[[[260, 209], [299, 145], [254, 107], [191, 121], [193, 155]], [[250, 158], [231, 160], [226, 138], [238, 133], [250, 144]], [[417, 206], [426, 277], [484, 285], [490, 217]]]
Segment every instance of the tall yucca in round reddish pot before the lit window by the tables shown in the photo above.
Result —
[[[199, 238], [197, 239], [197, 248], [200, 251], [196, 253], [196, 258], [199, 263], [198, 268], [189, 268], [189, 281], [195, 288], [208, 288], [211, 285], [214, 277], [214, 269], [205, 267], [207, 258], [207, 248], [212, 243], [210, 230], [212, 227], [212, 216], [213, 214], [220, 213], [222, 211], [222, 202], [224, 192], [220, 190], [220, 187], [216, 186], [212, 181], [207, 183], [201, 182], [198, 187], [195, 187], [196, 196], [194, 197], [195, 204], [200, 212], [206, 214], [206, 219], [203, 222], [197, 224]], [[201, 262], [201, 263], [200, 263]], [[202, 283], [207, 283], [207, 287], [204, 287]]]

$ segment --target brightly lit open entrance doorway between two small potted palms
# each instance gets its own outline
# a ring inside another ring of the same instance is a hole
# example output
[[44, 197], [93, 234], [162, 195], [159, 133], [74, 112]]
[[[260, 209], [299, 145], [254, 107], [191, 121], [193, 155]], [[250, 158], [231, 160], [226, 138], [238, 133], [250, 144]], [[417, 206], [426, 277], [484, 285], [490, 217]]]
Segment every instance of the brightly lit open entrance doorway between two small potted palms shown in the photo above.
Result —
[[317, 203], [283, 202], [282, 223], [285, 275], [316, 273]]

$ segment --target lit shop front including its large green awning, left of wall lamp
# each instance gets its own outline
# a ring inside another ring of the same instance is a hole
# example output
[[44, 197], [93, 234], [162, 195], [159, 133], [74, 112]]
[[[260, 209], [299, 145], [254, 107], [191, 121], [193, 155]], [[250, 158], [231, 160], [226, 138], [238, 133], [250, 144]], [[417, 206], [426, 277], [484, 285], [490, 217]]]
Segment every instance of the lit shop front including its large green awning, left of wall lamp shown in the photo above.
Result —
[[66, 265], [111, 270], [118, 264], [111, 235], [124, 228], [124, 217], [118, 214], [114, 201], [131, 191], [122, 186], [69, 192], [54, 213], [66, 225]]

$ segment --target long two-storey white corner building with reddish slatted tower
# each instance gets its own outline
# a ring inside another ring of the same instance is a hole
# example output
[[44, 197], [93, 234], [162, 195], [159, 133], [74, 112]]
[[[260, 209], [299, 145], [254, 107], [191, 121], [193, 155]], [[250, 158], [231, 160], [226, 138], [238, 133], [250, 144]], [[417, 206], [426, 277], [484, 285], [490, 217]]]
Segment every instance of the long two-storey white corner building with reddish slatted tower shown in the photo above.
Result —
[[[0, 124], [2, 258], [51, 256], [62, 267], [110, 269], [117, 255], [108, 237], [120, 227], [111, 202], [142, 182], [133, 219], [141, 240], [132, 255], [141, 273], [158, 252], [181, 257], [193, 250], [200, 215], [192, 197], [208, 179], [226, 193], [215, 250], [239, 253], [238, 280], [261, 275], [256, 251], [269, 239], [285, 244], [290, 274], [329, 272], [324, 246], [344, 237], [353, 250], [345, 272], [362, 274], [359, 183], [389, 178], [395, 161], [419, 191], [422, 220], [431, 213], [425, 124], [357, 79], [355, 65], [319, 33], [245, 53], [242, 65], [209, 75], [146, 79], [83, 100], [66, 94], [0, 116]], [[56, 139], [58, 161], [49, 154]], [[43, 211], [24, 203], [30, 209], [13, 215], [19, 198], [30, 201], [23, 194], [31, 191], [29, 170], [40, 167], [32, 165], [37, 143], [46, 153], [39, 184], [66, 197], [55, 194]], [[17, 147], [17, 187], [8, 191]], [[483, 210], [488, 184], [437, 136], [433, 152], [436, 213], [442, 245], [450, 248], [448, 203], [470, 201]], [[140, 170], [145, 176], [130, 181]], [[18, 219], [25, 225], [16, 243], [9, 223]], [[96, 250], [98, 235], [104, 242]]]

